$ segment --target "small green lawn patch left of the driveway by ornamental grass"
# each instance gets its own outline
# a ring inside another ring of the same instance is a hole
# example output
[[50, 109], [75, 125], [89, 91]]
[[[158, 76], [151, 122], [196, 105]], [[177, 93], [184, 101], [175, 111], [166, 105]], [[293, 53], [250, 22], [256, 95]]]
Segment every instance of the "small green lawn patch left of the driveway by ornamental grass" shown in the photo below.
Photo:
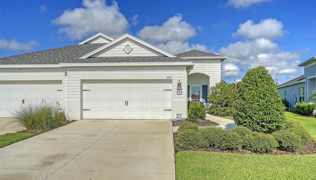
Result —
[[30, 133], [8, 133], [0, 135], [0, 148], [8, 146], [18, 141], [22, 141], [29, 137], [35, 136], [35, 134]]

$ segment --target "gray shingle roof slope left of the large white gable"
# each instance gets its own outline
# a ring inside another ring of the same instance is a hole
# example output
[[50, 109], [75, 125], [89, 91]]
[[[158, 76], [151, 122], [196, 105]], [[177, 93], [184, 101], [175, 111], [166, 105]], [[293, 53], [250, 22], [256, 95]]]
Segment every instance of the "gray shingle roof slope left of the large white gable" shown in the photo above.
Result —
[[103, 45], [105, 45], [105, 43], [76, 44], [21, 55], [13, 55], [0, 58], [0, 64], [58, 64], [76, 60]]

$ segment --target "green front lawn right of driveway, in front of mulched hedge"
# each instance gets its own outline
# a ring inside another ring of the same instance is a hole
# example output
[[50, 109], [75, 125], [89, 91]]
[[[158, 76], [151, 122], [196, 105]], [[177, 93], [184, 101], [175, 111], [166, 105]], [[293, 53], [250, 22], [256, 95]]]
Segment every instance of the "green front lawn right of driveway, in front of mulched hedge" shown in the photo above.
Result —
[[316, 154], [259, 155], [205, 151], [176, 154], [177, 180], [316, 179]]

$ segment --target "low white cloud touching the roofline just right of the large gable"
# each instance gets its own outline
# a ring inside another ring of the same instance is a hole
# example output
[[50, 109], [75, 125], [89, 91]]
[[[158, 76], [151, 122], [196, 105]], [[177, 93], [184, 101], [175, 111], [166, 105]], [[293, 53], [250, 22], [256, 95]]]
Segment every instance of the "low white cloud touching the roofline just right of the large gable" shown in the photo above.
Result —
[[207, 46], [202, 44], [189, 44], [182, 41], [168, 41], [167, 43], [161, 43], [156, 45], [158, 48], [163, 49], [171, 54], [179, 54], [192, 49], [208, 51]]

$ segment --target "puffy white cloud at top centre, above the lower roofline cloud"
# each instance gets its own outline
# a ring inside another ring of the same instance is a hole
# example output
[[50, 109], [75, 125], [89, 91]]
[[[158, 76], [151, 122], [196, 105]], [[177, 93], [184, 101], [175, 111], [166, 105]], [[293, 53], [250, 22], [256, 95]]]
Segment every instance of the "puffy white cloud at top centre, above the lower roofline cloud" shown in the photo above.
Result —
[[151, 42], [186, 41], [196, 35], [195, 28], [182, 20], [181, 14], [170, 17], [161, 26], [145, 26], [137, 36]]

